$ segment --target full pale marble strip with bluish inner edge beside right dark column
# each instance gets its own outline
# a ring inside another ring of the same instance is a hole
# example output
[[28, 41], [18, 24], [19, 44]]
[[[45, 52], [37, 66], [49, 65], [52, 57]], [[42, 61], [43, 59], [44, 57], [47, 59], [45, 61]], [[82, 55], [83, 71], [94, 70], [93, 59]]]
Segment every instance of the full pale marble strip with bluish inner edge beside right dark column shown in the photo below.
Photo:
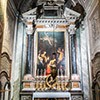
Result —
[[76, 31], [76, 36], [76, 62], [78, 74], [81, 80], [81, 89], [83, 90], [84, 100], [90, 100], [87, 38], [86, 29], [83, 25], [81, 25], [80, 28]]

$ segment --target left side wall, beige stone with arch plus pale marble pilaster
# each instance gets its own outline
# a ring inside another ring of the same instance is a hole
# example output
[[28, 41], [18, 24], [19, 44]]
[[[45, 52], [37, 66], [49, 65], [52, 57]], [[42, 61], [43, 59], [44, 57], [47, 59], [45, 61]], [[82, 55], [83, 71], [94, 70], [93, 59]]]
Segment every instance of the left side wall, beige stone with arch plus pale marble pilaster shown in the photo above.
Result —
[[0, 16], [0, 49], [2, 49], [0, 50], [0, 72], [5, 71], [8, 77], [11, 77], [11, 98], [19, 100], [20, 79], [24, 74], [22, 69], [25, 69], [26, 65], [25, 25], [21, 22], [18, 24], [19, 20], [15, 14], [17, 11], [13, 9], [14, 5], [12, 6], [10, 1], [0, 0], [0, 4], [2, 11]]

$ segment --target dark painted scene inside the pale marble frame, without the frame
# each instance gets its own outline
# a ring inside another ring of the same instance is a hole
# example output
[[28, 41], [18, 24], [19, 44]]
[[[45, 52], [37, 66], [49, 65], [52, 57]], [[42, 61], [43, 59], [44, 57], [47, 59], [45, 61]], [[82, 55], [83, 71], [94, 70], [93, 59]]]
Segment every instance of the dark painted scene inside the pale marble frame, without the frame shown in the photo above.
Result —
[[[50, 61], [56, 59], [55, 65], [57, 70], [59, 69], [59, 74], [64, 73], [65, 70], [65, 41], [64, 41], [64, 32], [38, 32], [38, 62], [37, 69], [39, 75], [44, 74], [45, 69], [46, 72], [49, 71], [48, 64]], [[58, 51], [61, 50], [61, 53]], [[46, 52], [44, 54], [44, 52]], [[54, 54], [55, 53], [55, 57]], [[44, 56], [49, 58], [49, 60], [45, 61]], [[43, 60], [41, 60], [43, 58]], [[61, 59], [62, 58], [62, 59]], [[59, 59], [61, 59], [59, 61]], [[41, 70], [42, 69], [42, 70]]]

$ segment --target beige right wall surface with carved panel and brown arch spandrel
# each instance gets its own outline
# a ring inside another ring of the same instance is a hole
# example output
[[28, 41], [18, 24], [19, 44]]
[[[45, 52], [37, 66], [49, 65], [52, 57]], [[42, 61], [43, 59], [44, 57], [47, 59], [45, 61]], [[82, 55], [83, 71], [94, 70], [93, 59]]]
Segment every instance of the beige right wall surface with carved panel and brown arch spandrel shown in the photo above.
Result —
[[[87, 14], [89, 24], [89, 41], [90, 41], [90, 62], [92, 78], [100, 70], [99, 56], [100, 52], [100, 1], [93, 2], [90, 6], [89, 13]], [[97, 56], [97, 58], [96, 58]], [[96, 64], [96, 66], [95, 66]], [[97, 67], [98, 66], [98, 67]]]

